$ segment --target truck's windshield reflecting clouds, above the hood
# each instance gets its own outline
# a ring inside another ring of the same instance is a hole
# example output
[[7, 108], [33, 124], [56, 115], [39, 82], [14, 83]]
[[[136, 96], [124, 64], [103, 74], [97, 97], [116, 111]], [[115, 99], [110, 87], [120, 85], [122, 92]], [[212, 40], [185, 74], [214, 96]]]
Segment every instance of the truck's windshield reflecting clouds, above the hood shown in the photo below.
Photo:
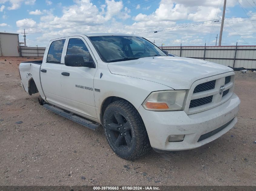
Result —
[[161, 49], [141, 37], [89, 37], [104, 62], [118, 62], [149, 56], [167, 56]]

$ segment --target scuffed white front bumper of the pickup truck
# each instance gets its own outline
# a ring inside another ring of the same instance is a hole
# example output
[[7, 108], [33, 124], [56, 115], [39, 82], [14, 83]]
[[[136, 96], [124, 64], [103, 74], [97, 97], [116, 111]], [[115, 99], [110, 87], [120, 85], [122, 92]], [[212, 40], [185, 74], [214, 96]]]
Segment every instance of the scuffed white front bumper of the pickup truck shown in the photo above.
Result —
[[[233, 93], [228, 101], [218, 107], [191, 115], [184, 111], [148, 111], [142, 106], [138, 112], [147, 129], [151, 147], [178, 151], [200, 147], [228, 132], [237, 122], [239, 104], [239, 98]], [[212, 133], [218, 128], [219, 131]], [[211, 136], [200, 141], [199, 138], [204, 134]], [[181, 142], [169, 142], [169, 135], [185, 135], [185, 138]]]

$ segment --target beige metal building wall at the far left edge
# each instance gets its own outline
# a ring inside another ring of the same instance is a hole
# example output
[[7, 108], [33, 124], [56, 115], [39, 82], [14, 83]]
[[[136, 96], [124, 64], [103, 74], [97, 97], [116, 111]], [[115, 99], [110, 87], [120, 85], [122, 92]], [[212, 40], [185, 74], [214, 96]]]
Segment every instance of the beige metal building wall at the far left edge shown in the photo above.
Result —
[[20, 56], [18, 34], [0, 33], [0, 56]]

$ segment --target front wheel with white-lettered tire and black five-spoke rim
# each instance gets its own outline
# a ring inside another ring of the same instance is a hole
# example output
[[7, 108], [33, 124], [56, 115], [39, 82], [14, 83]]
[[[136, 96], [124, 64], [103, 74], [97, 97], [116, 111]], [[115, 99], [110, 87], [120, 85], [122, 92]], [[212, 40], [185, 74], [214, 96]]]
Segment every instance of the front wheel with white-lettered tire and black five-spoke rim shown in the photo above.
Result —
[[133, 160], [151, 149], [140, 114], [126, 100], [108, 105], [103, 116], [103, 128], [108, 144], [121, 158]]

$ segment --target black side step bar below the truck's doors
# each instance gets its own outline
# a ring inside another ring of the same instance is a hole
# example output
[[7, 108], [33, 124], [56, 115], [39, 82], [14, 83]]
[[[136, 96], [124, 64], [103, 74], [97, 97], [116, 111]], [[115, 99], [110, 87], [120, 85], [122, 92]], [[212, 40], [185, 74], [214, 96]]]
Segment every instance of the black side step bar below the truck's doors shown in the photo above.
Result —
[[95, 123], [92, 123], [91, 121], [88, 121], [82, 117], [74, 115], [74, 113], [67, 113], [65, 110], [62, 110], [58, 107], [49, 105], [49, 104], [44, 104], [43, 105], [46, 109], [53, 111], [54, 113], [57, 113], [67, 119], [70, 119], [76, 123], [79, 123], [82, 126], [88, 127], [89, 129], [97, 131], [100, 128], [100, 125], [97, 125]]

